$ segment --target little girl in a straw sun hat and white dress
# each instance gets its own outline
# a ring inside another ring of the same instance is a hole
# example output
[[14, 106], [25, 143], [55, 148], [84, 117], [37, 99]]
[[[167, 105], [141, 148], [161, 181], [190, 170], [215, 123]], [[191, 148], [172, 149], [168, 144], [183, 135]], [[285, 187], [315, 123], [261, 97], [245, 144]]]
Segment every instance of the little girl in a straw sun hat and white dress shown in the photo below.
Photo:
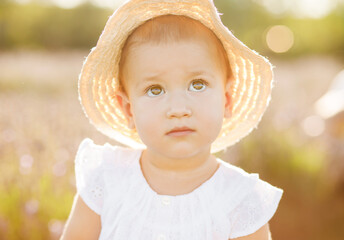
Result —
[[271, 239], [283, 190], [212, 155], [246, 136], [270, 100], [270, 63], [212, 0], [129, 0], [84, 62], [90, 122], [61, 239]]

